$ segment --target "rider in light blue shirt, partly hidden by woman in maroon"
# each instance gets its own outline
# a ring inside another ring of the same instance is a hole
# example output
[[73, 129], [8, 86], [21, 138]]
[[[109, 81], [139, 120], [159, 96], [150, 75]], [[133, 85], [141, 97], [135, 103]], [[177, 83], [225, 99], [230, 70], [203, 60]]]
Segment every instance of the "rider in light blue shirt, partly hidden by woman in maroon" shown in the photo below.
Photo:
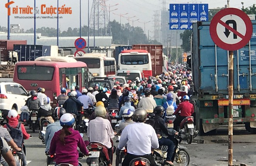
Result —
[[46, 154], [49, 153], [51, 141], [53, 139], [55, 132], [62, 129], [59, 119], [61, 118], [61, 116], [64, 113], [66, 113], [66, 110], [64, 108], [56, 107], [54, 110], [54, 117], [56, 117], [58, 120], [52, 124], [47, 125], [47, 127], [46, 127], [46, 133], [44, 136], [45, 137], [45, 145], [46, 145], [46, 149], [45, 149]]

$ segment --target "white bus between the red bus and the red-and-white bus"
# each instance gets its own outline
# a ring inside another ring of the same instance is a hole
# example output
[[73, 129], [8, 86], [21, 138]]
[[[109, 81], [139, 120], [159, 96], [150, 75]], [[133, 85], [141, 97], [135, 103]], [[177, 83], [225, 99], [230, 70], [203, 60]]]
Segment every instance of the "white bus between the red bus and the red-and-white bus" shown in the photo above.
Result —
[[109, 58], [106, 54], [88, 53], [84, 56], [73, 57], [76, 61], [87, 64], [87, 68], [95, 77], [115, 76], [117, 64], [115, 58]]

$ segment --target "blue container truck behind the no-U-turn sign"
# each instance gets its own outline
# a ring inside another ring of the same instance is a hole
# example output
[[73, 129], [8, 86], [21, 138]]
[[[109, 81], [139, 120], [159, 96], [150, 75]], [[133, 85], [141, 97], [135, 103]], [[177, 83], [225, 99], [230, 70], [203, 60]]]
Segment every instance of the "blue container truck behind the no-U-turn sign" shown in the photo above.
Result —
[[[256, 21], [253, 37], [242, 49], [234, 51], [233, 124], [244, 124], [246, 130], [256, 134]], [[209, 32], [210, 22], [193, 23], [192, 56], [188, 67], [192, 69], [194, 93], [191, 100], [195, 108], [195, 123], [199, 134], [214, 134], [220, 125], [229, 122], [229, 70], [228, 55], [216, 46]]]

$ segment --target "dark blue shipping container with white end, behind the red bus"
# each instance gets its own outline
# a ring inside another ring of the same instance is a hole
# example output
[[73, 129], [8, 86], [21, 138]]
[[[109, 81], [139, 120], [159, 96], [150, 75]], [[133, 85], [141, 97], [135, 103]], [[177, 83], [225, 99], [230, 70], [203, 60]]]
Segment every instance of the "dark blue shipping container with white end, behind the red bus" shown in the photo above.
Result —
[[34, 61], [41, 56], [58, 56], [58, 46], [42, 45], [14, 45], [14, 51], [18, 53], [18, 61]]

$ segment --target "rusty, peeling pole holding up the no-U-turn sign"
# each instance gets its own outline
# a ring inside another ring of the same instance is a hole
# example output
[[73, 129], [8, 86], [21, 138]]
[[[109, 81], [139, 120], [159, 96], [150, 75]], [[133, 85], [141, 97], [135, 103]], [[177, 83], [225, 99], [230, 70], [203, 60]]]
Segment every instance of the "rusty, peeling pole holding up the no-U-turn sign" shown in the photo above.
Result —
[[229, 166], [233, 166], [233, 84], [234, 84], [234, 54], [229, 51]]

